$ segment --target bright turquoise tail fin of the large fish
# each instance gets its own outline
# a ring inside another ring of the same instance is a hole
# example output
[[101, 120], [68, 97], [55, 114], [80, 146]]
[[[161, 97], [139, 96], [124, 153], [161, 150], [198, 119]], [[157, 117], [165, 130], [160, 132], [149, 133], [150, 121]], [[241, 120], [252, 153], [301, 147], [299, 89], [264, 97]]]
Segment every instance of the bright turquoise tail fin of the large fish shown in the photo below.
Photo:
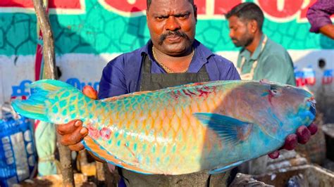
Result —
[[57, 94], [59, 92], [74, 90], [80, 92], [78, 89], [75, 89], [65, 82], [43, 79], [30, 84], [30, 97], [27, 100], [15, 100], [11, 105], [16, 112], [25, 117], [44, 122], [54, 122], [54, 120], [51, 119], [50, 112], [52, 112], [51, 106], [61, 98], [61, 96], [57, 96]]

